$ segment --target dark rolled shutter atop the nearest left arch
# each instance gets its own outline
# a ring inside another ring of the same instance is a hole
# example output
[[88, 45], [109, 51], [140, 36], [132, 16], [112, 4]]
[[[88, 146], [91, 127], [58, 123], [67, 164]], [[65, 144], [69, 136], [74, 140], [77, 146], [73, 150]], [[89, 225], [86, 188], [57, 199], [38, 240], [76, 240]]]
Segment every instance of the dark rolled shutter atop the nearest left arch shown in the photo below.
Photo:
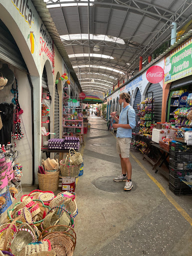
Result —
[[8, 28], [0, 19], [0, 59], [27, 71], [24, 59]]

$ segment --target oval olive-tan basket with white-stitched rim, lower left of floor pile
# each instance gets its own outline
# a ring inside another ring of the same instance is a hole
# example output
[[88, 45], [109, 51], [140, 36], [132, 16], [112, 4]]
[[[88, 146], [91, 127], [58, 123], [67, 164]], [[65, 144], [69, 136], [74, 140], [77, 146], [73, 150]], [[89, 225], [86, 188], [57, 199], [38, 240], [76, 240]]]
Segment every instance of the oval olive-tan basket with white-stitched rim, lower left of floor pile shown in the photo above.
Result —
[[35, 234], [32, 228], [20, 228], [12, 238], [10, 250], [14, 255], [18, 255], [19, 251], [30, 242], [35, 242]]

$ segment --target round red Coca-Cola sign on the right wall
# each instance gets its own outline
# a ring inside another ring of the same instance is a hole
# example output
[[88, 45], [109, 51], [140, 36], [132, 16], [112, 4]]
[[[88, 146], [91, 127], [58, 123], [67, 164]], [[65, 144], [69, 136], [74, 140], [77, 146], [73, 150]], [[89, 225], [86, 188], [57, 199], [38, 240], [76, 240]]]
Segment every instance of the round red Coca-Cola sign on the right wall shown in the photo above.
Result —
[[146, 79], [151, 83], [162, 81], [164, 77], [164, 70], [160, 66], [151, 66], [146, 71]]

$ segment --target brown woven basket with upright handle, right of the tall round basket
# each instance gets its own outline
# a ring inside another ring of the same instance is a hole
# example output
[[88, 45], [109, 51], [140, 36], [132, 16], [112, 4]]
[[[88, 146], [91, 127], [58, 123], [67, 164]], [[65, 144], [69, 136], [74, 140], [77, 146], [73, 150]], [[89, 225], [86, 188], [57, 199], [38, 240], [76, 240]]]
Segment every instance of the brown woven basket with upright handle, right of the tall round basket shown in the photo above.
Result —
[[77, 177], [80, 171], [80, 164], [68, 165], [70, 162], [69, 155], [66, 156], [65, 160], [60, 160], [60, 174], [63, 177]]

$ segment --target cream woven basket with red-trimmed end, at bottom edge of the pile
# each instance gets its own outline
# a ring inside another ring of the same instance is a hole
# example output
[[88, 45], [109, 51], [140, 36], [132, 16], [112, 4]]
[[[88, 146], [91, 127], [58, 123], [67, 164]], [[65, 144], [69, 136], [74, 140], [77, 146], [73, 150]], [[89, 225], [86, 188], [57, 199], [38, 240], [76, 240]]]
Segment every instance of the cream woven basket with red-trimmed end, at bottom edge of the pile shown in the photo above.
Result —
[[31, 254], [34, 254], [34, 252], [41, 252], [41, 251], [47, 251], [51, 250], [51, 244], [48, 239], [44, 239], [41, 241], [41, 243], [36, 242], [32, 244], [27, 244], [25, 245], [18, 256], [28, 256]]

